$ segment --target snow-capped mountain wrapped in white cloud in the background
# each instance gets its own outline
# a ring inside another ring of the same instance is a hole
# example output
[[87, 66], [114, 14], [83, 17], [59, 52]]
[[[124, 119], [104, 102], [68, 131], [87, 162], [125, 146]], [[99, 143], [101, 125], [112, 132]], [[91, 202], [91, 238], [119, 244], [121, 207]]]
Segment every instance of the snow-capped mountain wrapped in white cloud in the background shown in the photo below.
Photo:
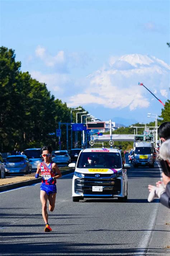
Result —
[[90, 74], [81, 93], [70, 97], [70, 106], [97, 104], [105, 108], [130, 110], [147, 108], [155, 98], [142, 82], [165, 102], [169, 89], [170, 66], [156, 57], [129, 54], [111, 57], [109, 64]]

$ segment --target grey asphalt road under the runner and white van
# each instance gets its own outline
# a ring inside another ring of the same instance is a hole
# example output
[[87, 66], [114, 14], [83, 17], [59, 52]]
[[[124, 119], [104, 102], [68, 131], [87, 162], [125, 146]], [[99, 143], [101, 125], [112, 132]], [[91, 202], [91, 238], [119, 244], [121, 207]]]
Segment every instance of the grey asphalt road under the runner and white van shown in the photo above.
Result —
[[40, 184], [0, 193], [0, 255], [145, 255], [160, 205], [147, 202], [147, 186], [159, 177], [157, 164], [129, 169], [126, 203], [72, 202], [72, 175], [63, 177], [49, 214], [50, 233], [44, 233]]

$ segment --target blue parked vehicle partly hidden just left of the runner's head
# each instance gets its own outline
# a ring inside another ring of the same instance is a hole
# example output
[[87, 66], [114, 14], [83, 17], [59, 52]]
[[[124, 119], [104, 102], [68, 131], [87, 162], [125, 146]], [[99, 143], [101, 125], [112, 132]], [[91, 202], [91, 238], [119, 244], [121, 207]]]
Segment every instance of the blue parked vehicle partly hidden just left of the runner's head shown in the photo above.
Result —
[[37, 171], [37, 166], [42, 162], [41, 148], [28, 148], [24, 150], [25, 156], [28, 157], [32, 165], [32, 171]]

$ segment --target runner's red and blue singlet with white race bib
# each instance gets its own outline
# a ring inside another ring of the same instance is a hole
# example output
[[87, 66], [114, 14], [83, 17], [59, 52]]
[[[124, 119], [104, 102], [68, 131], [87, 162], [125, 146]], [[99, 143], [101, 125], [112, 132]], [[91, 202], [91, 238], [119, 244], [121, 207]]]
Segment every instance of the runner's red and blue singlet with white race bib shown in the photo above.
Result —
[[[52, 164], [53, 161], [50, 162], [49, 165], [46, 165], [46, 163], [41, 162], [40, 164], [40, 170], [41, 170], [41, 176], [42, 176], [42, 183], [46, 185], [56, 184], [56, 180], [53, 180], [52, 183], [48, 183], [47, 180], [49, 178], [55, 177], [56, 174], [52, 171]], [[45, 180], [45, 181], [44, 181]]]

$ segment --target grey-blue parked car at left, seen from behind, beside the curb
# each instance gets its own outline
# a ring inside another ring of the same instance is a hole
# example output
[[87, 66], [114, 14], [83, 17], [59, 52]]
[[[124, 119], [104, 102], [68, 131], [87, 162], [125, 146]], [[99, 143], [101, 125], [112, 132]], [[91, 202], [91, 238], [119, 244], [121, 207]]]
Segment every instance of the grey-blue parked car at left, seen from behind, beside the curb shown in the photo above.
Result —
[[27, 158], [23, 155], [13, 155], [8, 156], [5, 162], [5, 172], [7, 174], [11, 173], [31, 173], [32, 166]]

